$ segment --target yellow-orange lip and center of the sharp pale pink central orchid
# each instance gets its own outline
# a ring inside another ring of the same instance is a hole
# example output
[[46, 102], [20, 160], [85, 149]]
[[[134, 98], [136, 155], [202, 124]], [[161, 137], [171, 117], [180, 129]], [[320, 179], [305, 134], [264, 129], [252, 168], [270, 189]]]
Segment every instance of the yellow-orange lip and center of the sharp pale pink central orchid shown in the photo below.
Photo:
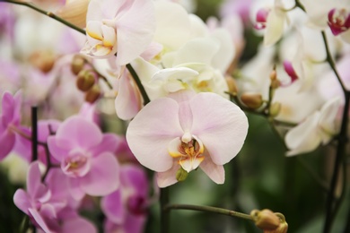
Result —
[[198, 168], [199, 164], [205, 159], [203, 143], [196, 136], [189, 133], [185, 133], [181, 139], [172, 140], [168, 151], [172, 158], [178, 159], [181, 168], [187, 172]]

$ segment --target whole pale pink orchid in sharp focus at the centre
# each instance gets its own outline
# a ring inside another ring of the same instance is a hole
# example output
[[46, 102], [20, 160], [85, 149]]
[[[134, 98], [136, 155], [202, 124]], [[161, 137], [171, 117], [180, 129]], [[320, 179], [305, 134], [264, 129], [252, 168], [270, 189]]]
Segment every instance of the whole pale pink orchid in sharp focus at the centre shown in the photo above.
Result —
[[144, 167], [158, 172], [160, 187], [198, 167], [223, 184], [223, 164], [241, 151], [247, 132], [247, 116], [231, 101], [178, 91], [141, 109], [127, 128], [127, 142]]

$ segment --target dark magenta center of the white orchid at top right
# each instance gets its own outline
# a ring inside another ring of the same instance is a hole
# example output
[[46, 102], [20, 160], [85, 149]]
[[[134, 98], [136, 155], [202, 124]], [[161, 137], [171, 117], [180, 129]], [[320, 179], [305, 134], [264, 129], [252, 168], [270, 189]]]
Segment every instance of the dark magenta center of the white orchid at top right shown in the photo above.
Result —
[[328, 13], [328, 26], [335, 36], [348, 30], [350, 28], [350, 13], [346, 9], [332, 9]]

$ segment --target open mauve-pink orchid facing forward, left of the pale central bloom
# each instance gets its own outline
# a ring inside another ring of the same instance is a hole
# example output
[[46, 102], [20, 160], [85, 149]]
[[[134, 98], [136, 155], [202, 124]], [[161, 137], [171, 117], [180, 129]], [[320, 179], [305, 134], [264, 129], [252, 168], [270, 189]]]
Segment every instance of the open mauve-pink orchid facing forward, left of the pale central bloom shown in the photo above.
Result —
[[84, 194], [106, 195], [119, 185], [116, 151], [118, 138], [81, 116], [71, 116], [48, 137], [52, 156], [69, 177], [70, 192], [80, 200]]

